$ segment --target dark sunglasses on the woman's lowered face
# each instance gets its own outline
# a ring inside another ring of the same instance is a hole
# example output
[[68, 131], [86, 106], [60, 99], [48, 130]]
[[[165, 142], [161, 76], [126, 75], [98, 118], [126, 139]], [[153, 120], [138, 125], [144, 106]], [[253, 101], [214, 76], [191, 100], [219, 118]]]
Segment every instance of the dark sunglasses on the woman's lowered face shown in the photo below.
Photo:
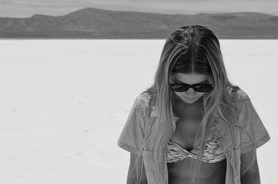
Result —
[[191, 87], [195, 90], [195, 92], [209, 92], [213, 90], [212, 84], [170, 84], [170, 88], [174, 92], [186, 92]]

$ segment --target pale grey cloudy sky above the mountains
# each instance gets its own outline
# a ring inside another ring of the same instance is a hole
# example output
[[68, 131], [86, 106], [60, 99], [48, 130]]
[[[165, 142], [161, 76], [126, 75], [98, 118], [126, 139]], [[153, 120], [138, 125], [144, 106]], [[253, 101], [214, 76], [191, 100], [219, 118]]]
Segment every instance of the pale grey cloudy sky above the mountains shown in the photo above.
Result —
[[82, 8], [188, 14], [263, 12], [278, 15], [277, 0], [0, 0], [0, 17], [66, 15]]

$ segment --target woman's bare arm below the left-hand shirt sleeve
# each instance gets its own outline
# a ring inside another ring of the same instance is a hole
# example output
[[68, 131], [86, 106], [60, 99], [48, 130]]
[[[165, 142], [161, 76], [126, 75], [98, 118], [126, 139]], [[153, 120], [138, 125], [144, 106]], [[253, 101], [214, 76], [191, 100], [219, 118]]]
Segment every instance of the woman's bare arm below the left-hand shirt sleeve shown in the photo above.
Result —
[[[142, 156], [139, 157], [138, 165], [134, 165], [137, 155], [131, 153], [129, 172], [127, 174], [126, 184], [147, 184], [147, 176]], [[138, 173], [136, 172], [138, 171]]]

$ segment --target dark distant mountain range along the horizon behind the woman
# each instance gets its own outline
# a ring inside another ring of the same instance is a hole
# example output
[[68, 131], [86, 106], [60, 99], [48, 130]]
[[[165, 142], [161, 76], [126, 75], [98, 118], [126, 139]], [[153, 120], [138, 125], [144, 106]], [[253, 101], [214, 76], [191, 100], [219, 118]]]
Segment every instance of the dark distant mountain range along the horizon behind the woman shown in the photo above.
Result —
[[97, 8], [58, 17], [0, 17], [0, 38], [165, 39], [193, 24], [211, 28], [220, 39], [278, 39], [278, 16], [259, 12], [167, 15]]

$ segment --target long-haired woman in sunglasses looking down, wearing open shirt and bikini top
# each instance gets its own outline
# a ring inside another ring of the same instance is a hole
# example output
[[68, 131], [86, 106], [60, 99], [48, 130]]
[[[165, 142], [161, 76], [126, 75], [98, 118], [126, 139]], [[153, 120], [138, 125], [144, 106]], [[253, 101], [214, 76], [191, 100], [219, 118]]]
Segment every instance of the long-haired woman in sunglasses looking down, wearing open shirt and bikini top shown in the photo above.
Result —
[[131, 152], [127, 183], [260, 183], [256, 148], [270, 140], [247, 94], [227, 78], [210, 29], [167, 38], [154, 84], [142, 92], [117, 144]]

